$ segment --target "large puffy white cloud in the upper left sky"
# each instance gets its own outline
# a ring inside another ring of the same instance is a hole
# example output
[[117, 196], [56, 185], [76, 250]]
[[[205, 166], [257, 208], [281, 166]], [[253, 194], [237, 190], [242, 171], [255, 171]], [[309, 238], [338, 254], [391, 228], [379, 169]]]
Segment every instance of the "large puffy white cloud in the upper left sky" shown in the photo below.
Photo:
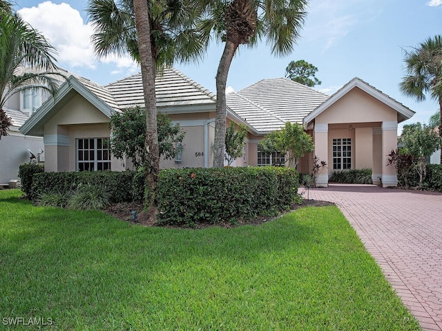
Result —
[[84, 23], [78, 10], [66, 3], [59, 5], [51, 1], [39, 3], [37, 7], [22, 8], [19, 14], [33, 28], [39, 30], [52, 46], [57, 49], [58, 63], [66, 69], [86, 67], [95, 69], [97, 63], [111, 64], [115, 72], [137, 72], [137, 65], [132, 59], [122, 56], [108, 56], [97, 59], [90, 36], [93, 34], [92, 23]]

